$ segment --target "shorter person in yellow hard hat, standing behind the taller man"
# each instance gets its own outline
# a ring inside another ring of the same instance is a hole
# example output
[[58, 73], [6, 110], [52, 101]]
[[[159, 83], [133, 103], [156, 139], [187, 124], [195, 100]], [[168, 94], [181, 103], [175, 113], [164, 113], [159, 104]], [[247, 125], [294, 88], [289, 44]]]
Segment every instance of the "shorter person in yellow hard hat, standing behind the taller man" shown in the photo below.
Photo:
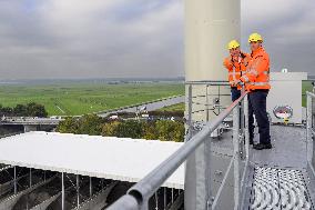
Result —
[[237, 83], [240, 83], [242, 74], [246, 72], [246, 66], [250, 59], [250, 54], [242, 52], [240, 47], [241, 44], [236, 40], [230, 41], [227, 44], [230, 57], [225, 58], [223, 62], [228, 71], [232, 101], [241, 97], [242, 87]]

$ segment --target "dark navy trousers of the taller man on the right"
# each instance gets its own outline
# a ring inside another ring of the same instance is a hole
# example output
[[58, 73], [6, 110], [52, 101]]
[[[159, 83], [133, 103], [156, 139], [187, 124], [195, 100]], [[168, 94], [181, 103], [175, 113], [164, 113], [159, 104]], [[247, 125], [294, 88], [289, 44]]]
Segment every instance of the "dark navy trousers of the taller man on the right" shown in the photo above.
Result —
[[266, 111], [268, 90], [255, 90], [248, 93], [248, 129], [250, 140], [254, 139], [254, 116], [260, 131], [260, 142], [271, 143], [270, 120]]

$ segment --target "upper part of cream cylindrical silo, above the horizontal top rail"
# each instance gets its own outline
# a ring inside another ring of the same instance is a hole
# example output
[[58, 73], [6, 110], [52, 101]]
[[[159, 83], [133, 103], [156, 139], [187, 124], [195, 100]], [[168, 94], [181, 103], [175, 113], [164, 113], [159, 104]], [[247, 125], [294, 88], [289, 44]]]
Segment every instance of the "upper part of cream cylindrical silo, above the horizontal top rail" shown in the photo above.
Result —
[[226, 80], [227, 42], [241, 37], [240, 0], [185, 0], [186, 81]]

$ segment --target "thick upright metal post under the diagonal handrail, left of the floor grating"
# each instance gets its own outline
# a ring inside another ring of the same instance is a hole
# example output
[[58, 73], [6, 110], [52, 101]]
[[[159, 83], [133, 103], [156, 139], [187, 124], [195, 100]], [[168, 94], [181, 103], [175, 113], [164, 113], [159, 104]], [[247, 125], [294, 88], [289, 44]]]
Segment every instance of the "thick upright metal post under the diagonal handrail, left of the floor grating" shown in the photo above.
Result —
[[233, 110], [233, 144], [234, 144], [234, 210], [238, 210], [240, 202], [240, 104]]

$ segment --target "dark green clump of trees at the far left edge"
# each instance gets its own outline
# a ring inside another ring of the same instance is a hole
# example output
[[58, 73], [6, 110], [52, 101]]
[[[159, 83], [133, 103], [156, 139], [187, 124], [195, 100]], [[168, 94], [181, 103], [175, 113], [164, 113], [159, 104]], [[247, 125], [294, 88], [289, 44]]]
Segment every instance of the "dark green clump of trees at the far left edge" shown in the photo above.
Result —
[[47, 118], [48, 112], [44, 106], [30, 102], [27, 104], [17, 104], [16, 107], [3, 107], [0, 104], [0, 116], [6, 117], [39, 117]]

